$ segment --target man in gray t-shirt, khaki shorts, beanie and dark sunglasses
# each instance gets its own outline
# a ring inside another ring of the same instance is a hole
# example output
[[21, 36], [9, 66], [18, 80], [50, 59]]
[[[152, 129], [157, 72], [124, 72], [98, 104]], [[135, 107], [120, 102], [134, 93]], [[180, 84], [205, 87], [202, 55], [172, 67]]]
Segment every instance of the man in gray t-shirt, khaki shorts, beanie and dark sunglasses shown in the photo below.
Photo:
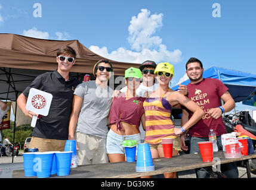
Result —
[[75, 89], [69, 122], [69, 140], [76, 140], [78, 165], [106, 163], [106, 138], [113, 90], [107, 85], [112, 65], [100, 60], [94, 66], [95, 81], [79, 84]]

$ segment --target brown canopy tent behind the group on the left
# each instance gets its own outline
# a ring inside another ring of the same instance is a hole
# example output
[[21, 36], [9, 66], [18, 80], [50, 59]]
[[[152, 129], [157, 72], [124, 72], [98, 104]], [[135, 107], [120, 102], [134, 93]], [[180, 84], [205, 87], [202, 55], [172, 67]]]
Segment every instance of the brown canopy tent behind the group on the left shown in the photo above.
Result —
[[[39, 74], [57, 69], [57, 49], [70, 46], [76, 50], [76, 63], [72, 75], [92, 73], [94, 64], [106, 59], [87, 49], [78, 40], [44, 40], [17, 34], [0, 34], [0, 99], [16, 101]], [[109, 61], [115, 75], [124, 75], [125, 69], [138, 64]]]

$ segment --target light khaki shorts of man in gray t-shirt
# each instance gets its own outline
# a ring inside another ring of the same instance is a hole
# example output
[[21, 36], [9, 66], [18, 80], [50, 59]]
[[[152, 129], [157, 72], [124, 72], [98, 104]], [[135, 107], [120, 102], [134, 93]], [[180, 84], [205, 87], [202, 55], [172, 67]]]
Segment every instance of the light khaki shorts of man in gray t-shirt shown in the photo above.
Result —
[[75, 133], [78, 145], [78, 165], [109, 162], [106, 150], [106, 139], [94, 135]]

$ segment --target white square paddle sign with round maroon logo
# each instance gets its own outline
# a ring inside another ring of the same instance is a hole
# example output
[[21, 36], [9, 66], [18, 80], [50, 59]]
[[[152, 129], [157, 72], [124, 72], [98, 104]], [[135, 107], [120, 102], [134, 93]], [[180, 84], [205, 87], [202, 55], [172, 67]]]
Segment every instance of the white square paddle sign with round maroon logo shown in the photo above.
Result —
[[[27, 97], [26, 109], [36, 113], [37, 115], [47, 116], [51, 106], [53, 95], [36, 88], [30, 88], [29, 97]], [[38, 117], [33, 116], [31, 126], [36, 126]]]

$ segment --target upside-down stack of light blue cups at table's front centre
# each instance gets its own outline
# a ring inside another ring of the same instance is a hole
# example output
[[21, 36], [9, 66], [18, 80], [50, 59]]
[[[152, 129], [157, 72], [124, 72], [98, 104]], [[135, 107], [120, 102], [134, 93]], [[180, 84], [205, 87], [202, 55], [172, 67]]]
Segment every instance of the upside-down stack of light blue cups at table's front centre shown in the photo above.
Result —
[[136, 172], [149, 172], [154, 170], [155, 166], [153, 164], [149, 144], [138, 144]]

